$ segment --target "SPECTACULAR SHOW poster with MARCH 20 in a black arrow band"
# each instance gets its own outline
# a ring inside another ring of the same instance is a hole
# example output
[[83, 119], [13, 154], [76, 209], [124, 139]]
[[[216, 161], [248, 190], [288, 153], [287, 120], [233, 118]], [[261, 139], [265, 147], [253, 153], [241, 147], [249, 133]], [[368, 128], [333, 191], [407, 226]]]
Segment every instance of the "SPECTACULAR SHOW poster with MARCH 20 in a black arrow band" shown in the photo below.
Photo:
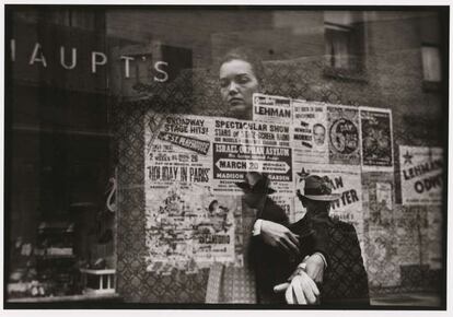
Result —
[[272, 188], [292, 195], [290, 128], [268, 122], [213, 118], [213, 190], [242, 195], [235, 186], [246, 172], [266, 173]]

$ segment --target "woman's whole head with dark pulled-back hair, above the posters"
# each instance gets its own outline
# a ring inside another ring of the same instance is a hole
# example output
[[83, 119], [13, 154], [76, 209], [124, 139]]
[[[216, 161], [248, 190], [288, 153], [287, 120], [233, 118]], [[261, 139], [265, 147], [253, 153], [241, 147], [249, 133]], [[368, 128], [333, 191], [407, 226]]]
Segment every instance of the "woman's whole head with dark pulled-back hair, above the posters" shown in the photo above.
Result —
[[228, 107], [226, 116], [252, 120], [254, 93], [264, 91], [263, 63], [251, 50], [235, 48], [221, 60], [220, 94]]

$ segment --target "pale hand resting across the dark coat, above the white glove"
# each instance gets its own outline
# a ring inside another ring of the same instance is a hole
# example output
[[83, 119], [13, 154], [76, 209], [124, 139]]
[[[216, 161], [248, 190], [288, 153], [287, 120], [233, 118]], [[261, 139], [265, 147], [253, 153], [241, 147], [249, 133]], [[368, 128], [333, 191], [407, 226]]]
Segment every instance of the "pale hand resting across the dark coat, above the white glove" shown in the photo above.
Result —
[[287, 251], [292, 257], [299, 257], [299, 235], [293, 234], [288, 227], [263, 220], [260, 235], [263, 240]]

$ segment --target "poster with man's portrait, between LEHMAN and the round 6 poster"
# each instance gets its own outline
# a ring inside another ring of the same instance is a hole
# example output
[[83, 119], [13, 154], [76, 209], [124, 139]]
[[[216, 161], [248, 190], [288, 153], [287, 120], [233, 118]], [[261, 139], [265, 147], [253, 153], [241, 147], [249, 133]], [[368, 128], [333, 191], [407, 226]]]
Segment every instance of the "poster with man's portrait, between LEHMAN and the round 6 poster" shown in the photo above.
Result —
[[294, 162], [328, 163], [326, 105], [299, 99], [292, 105]]

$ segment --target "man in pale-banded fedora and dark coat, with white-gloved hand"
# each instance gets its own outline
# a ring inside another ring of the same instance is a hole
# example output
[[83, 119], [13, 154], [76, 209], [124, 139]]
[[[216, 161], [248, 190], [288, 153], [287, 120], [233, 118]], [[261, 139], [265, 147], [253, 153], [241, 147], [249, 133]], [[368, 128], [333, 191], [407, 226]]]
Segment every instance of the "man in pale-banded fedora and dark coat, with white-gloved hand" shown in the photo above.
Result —
[[[332, 184], [327, 177], [311, 175], [301, 184], [298, 197], [306, 209], [304, 219], [314, 226], [325, 224], [324, 230], [328, 235], [326, 253], [329, 255], [329, 262], [320, 285], [321, 304], [333, 307], [369, 306], [368, 275], [356, 230], [353, 225], [333, 220], [328, 215], [330, 203], [338, 200], [340, 195], [332, 192]], [[306, 268], [299, 266], [290, 278], [290, 283], [277, 287], [282, 291], [288, 286], [288, 303], [301, 304], [297, 295], [300, 293], [301, 279], [305, 271]]]

